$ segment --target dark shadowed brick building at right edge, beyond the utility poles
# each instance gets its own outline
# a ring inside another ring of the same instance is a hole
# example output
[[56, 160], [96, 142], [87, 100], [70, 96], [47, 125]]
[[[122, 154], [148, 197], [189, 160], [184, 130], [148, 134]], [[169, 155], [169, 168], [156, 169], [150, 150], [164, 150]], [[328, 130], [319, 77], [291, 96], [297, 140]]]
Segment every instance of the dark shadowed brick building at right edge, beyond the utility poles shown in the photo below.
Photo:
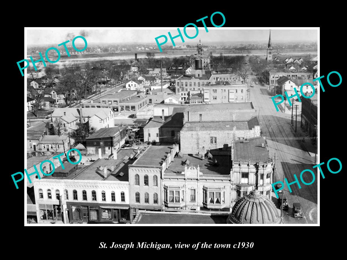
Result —
[[305, 128], [310, 137], [316, 137], [318, 127], [318, 100], [317, 95], [301, 99], [301, 127]]

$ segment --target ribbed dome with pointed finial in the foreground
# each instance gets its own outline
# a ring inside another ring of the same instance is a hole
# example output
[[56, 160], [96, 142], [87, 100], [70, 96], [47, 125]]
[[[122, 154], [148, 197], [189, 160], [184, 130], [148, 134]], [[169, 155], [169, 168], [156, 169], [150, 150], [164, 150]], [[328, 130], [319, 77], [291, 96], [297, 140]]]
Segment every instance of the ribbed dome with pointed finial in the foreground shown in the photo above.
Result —
[[235, 224], [279, 224], [281, 218], [273, 202], [253, 190], [238, 200], [228, 217], [228, 223]]

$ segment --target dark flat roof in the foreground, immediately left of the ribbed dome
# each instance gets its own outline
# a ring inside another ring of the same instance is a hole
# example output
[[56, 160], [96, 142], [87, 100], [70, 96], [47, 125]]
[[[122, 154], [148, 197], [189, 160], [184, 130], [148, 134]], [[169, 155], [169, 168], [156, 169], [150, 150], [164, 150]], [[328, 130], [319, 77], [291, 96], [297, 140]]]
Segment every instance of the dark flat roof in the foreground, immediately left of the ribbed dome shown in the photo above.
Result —
[[140, 213], [135, 224], [226, 224], [228, 215]]

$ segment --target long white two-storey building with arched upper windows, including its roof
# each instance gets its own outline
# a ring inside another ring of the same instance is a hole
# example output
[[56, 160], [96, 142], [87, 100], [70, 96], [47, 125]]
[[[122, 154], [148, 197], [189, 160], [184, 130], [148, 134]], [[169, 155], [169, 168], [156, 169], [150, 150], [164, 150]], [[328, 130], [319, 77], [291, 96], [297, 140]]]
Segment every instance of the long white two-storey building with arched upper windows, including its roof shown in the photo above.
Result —
[[129, 153], [137, 150], [122, 149], [121, 159], [97, 159], [77, 171], [35, 179], [38, 223], [130, 223]]

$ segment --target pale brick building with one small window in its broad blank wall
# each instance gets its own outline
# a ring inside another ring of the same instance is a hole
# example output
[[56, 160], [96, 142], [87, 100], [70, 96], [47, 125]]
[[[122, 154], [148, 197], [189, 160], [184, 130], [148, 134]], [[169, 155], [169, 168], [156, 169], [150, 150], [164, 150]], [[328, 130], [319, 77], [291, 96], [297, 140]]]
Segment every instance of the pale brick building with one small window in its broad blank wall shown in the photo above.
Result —
[[231, 140], [260, 136], [260, 122], [255, 116], [248, 121], [186, 122], [180, 131], [183, 154], [205, 154], [209, 150], [231, 145]]

